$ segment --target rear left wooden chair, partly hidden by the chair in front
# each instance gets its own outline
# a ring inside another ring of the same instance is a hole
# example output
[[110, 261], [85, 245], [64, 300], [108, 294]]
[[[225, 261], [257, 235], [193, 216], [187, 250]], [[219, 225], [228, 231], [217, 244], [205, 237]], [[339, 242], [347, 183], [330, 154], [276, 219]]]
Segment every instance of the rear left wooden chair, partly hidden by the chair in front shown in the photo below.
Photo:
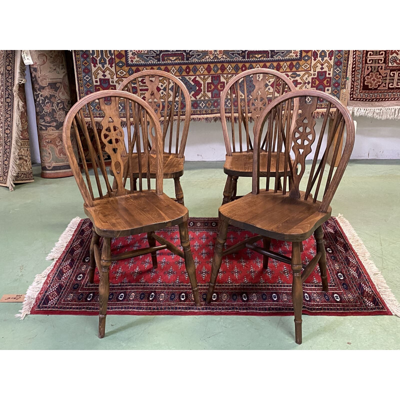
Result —
[[[157, 118], [163, 122], [163, 176], [164, 179], [173, 179], [176, 201], [184, 205], [179, 178], [183, 175], [184, 148], [190, 123], [189, 92], [180, 79], [168, 72], [153, 69], [130, 75], [122, 81], [118, 90], [126, 90], [143, 98]], [[183, 123], [181, 123], [182, 113], [184, 113]], [[174, 120], [176, 124], [173, 123]], [[134, 182], [137, 177], [138, 171], [133, 170]], [[154, 170], [150, 170], [150, 177], [155, 177]]]

